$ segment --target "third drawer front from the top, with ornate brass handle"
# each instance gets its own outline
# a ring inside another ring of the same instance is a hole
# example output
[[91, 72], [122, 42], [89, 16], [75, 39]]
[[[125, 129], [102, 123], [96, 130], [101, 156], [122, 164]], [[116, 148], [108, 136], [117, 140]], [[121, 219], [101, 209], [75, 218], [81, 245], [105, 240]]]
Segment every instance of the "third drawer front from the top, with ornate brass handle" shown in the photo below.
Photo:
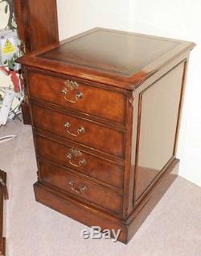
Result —
[[57, 162], [82, 174], [96, 178], [115, 187], [122, 187], [123, 166], [109, 162], [106, 159], [95, 157], [82, 152], [70, 145], [63, 145], [51, 141], [43, 136], [35, 136], [36, 152], [41, 157]]

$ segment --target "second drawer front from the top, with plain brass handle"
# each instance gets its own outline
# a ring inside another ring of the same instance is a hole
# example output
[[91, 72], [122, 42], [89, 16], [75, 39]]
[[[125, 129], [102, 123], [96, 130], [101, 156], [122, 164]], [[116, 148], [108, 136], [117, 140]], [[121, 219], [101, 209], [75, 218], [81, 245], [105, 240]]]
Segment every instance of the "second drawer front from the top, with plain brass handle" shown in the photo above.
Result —
[[35, 128], [64, 136], [116, 157], [123, 157], [123, 132], [43, 107], [32, 106], [31, 110]]

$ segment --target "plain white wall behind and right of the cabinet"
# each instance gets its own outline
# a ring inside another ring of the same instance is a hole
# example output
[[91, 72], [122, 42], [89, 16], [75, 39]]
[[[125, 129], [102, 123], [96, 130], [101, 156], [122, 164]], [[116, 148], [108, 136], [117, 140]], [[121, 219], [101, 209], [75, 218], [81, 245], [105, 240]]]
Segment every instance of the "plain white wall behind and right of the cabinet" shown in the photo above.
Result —
[[108, 27], [192, 40], [178, 144], [179, 174], [201, 186], [201, 1], [58, 0], [60, 39], [92, 27]]

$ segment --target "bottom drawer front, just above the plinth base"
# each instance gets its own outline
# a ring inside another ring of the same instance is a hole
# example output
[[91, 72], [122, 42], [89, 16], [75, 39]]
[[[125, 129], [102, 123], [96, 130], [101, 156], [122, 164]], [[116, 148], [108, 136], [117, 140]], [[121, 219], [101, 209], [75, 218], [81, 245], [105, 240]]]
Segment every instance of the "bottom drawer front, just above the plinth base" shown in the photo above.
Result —
[[90, 183], [76, 175], [69, 174], [54, 166], [39, 163], [40, 178], [42, 181], [58, 187], [72, 195], [83, 198], [112, 212], [121, 212], [122, 197], [113, 191]]

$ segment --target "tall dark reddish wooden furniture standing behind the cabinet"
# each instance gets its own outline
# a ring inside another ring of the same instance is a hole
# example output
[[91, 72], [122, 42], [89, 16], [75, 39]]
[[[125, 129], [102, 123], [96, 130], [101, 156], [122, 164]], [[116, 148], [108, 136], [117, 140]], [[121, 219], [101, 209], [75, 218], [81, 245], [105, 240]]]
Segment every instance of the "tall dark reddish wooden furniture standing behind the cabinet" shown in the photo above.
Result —
[[[22, 40], [23, 51], [32, 52], [59, 42], [56, 0], [13, 0], [13, 2], [18, 37]], [[26, 81], [22, 111], [24, 124], [31, 124]]]

